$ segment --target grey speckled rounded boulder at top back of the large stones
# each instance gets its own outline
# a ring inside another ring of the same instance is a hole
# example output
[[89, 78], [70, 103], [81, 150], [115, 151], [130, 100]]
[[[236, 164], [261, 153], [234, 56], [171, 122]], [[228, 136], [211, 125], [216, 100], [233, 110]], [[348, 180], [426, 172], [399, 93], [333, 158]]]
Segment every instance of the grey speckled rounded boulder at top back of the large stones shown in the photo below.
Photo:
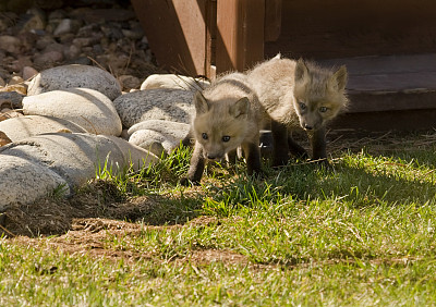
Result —
[[62, 65], [40, 72], [28, 85], [27, 95], [72, 87], [98, 90], [110, 100], [121, 95], [120, 84], [110, 73], [99, 67], [80, 64]]

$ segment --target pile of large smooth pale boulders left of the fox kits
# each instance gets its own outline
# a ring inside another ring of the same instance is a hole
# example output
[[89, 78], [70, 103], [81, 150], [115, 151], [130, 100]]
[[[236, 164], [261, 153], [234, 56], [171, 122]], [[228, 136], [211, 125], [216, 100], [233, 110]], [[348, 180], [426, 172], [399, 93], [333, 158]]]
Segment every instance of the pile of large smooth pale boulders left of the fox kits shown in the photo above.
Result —
[[0, 210], [53, 189], [70, 195], [96, 173], [137, 170], [172, 151], [194, 112], [194, 90], [179, 78], [153, 75], [142, 90], [122, 94], [95, 66], [39, 73], [16, 111], [22, 115], [0, 121]]

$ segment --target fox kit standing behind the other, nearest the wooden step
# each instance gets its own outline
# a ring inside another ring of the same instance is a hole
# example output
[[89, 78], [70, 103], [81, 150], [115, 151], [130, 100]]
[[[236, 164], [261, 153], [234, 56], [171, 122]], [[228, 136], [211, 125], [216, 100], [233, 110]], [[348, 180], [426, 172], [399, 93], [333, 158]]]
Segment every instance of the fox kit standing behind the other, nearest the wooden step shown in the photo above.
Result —
[[314, 160], [327, 162], [325, 126], [347, 107], [347, 67], [327, 70], [302, 59], [278, 57], [247, 72], [262, 106], [271, 118], [274, 165], [288, 162], [288, 154], [307, 157], [291, 132], [303, 128], [311, 140]]

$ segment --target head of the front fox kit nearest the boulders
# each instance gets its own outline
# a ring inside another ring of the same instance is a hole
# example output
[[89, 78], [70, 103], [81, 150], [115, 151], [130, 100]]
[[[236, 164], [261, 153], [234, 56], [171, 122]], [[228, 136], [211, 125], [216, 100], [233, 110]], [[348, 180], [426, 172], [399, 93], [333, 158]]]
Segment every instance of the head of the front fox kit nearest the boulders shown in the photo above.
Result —
[[243, 142], [249, 121], [249, 98], [206, 99], [201, 91], [194, 96], [196, 116], [195, 139], [203, 146], [204, 157], [217, 160]]

